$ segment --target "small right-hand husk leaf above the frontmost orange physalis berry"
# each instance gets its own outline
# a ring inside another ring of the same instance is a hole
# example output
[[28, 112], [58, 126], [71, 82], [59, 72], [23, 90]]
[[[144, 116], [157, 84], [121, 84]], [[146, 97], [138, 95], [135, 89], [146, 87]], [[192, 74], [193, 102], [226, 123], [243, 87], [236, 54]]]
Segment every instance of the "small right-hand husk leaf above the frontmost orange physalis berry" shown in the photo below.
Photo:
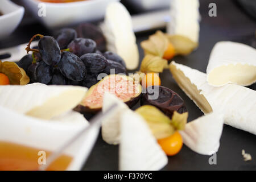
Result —
[[177, 113], [177, 111], [174, 111], [174, 114], [172, 115], [171, 125], [174, 126], [175, 130], [184, 130], [187, 119], [188, 112], [180, 114]]

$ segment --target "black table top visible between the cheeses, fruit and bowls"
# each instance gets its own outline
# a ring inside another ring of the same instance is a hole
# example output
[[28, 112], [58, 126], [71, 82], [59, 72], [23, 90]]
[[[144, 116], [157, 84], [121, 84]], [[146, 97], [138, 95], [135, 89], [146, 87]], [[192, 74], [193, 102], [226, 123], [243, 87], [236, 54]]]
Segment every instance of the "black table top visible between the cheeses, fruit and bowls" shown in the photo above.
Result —
[[[217, 17], [208, 16], [208, 5], [215, 2], [217, 5]], [[247, 15], [237, 3], [232, 0], [201, 0], [200, 1], [200, 45], [199, 48], [188, 56], [176, 56], [177, 63], [205, 72], [209, 60], [210, 51], [215, 43], [221, 40], [231, 40], [256, 46], [255, 30], [256, 20]], [[28, 20], [29, 19], [29, 20]], [[42, 24], [30, 19], [26, 15], [16, 31], [4, 40], [0, 40], [0, 49], [26, 43], [35, 34], [51, 35], [51, 31]], [[138, 44], [148, 38], [154, 32], [137, 34]], [[139, 46], [141, 60], [143, 51]], [[162, 85], [177, 92], [185, 101], [189, 112], [188, 121], [192, 121], [203, 115], [200, 109], [179, 88], [172, 78], [170, 71], [160, 73]], [[249, 86], [256, 90], [256, 84]], [[134, 108], [138, 107], [135, 106]], [[256, 121], [255, 121], [256, 122]], [[244, 162], [241, 151], [244, 149], [250, 153], [253, 160]], [[183, 146], [179, 154], [169, 157], [169, 163], [163, 170], [256, 170], [256, 136], [233, 127], [224, 126], [220, 140], [220, 148], [217, 152], [217, 165], [208, 163], [210, 156], [203, 156]], [[118, 146], [112, 146], [102, 140], [101, 134], [84, 165], [84, 170], [117, 170]]]

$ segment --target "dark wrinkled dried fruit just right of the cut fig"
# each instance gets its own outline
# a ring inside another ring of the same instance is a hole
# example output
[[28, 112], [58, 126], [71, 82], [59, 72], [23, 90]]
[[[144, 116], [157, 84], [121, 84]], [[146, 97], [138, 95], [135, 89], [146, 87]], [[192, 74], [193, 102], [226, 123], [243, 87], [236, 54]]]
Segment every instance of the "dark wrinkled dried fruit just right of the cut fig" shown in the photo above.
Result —
[[141, 105], [152, 105], [158, 107], [169, 118], [174, 111], [185, 113], [187, 111], [182, 98], [171, 89], [164, 86], [150, 86], [143, 93]]

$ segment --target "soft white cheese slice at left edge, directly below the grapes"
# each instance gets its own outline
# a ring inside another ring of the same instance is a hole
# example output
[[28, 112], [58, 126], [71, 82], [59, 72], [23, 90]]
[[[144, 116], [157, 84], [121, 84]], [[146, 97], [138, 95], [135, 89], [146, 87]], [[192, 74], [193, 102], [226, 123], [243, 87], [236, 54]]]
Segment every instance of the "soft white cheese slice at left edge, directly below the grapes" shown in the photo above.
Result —
[[0, 86], [0, 105], [31, 117], [51, 119], [76, 107], [86, 91], [81, 86], [39, 83]]

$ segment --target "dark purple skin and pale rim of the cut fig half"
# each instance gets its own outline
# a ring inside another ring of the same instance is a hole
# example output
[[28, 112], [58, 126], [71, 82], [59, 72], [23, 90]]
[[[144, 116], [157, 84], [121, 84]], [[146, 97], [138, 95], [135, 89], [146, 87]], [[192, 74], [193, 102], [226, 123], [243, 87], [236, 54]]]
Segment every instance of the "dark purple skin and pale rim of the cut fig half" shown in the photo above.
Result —
[[[112, 77], [112, 76], [115, 76], [115, 75], [109, 75], [109, 76], [106, 76], [106, 77]], [[106, 78], [105, 77], [105, 78]], [[131, 77], [129, 76], [125, 76], [127, 77], [127, 80], [128, 79], [132, 79]], [[104, 81], [103, 78], [101, 81]], [[100, 81], [100, 82], [101, 82]], [[98, 82], [97, 84], [93, 85], [87, 92], [86, 96], [88, 96], [88, 94], [90, 94], [90, 90], [93, 90], [94, 88], [96, 88], [96, 86], [98, 84], [100, 84], [100, 82]], [[139, 93], [135, 94], [135, 96], [131, 97], [129, 101], [126, 101], [124, 102], [127, 106], [129, 106], [130, 108], [133, 107], [134, 105], [136, 105], [138, 103], [138, 101], [141, 99], [141, 96], [142, 96], [142, 86], [140, 84], [138, 84], [139, 86]], [[85, 98], [86, 98], [85, 96]], [[98, 107], [98, 108], [90, 108], [89, 106], [84, 106], [82, 104], [78, 105], [75, 107], [75, 111], [79, 111], [80, 113], [92, 113], [92, 114], [95, 114], [95, 113], [98, 113], [99, 111], [101, 111], [102, 107]]]

